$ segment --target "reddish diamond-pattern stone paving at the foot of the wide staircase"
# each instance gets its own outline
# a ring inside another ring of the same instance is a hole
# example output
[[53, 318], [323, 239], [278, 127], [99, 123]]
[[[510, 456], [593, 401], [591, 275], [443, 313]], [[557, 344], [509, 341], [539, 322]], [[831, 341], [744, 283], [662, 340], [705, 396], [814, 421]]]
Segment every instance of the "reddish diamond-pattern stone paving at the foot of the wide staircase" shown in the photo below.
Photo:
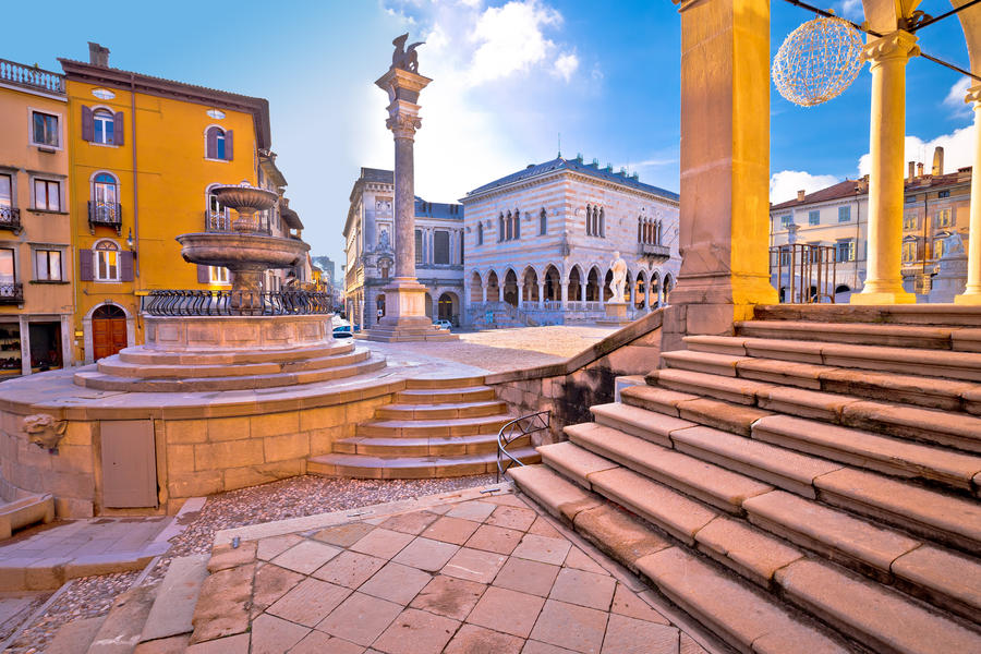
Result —
[[[637, 578], [488, 488], [219, 533], [213, 562], [234, 536], [242, 554], [205, 583], [189, 653], [706, 653]], [[247, 621], [214, 623], [250, 593]]]

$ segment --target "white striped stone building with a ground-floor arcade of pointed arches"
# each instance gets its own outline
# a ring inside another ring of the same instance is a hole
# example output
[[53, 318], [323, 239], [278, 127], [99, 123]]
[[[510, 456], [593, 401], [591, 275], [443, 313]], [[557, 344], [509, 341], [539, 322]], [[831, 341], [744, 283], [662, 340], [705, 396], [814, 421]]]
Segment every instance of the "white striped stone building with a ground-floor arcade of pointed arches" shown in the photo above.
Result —
[[467, 194], [465, 322], [476, 327], [604, 316], [614, 252], [632, 314], [675, 283], [678, 194], [582, 157], [532, 165]]

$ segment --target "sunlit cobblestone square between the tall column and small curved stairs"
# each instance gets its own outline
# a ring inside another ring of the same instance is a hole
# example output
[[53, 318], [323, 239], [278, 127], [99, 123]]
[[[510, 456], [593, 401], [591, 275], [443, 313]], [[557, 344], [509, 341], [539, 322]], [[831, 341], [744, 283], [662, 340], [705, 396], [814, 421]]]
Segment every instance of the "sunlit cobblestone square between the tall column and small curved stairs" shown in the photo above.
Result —
[[359, 340], [392, 358], [428, 358], [452, 361], [488, 372], [506, 372], [559, 363], [597, 343], [615, 328], [553, 325], [462, 331], [459, 341], [377, 343]]

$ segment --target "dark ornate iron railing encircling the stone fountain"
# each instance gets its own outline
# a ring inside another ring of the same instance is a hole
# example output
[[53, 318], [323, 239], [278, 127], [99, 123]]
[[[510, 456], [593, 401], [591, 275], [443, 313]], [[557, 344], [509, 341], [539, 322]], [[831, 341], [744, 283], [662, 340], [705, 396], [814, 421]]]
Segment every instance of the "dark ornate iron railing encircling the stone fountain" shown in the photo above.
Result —
[[143, 299], [152, 316], [286, 316], [334, 313], [330, 293], [160, 290]]

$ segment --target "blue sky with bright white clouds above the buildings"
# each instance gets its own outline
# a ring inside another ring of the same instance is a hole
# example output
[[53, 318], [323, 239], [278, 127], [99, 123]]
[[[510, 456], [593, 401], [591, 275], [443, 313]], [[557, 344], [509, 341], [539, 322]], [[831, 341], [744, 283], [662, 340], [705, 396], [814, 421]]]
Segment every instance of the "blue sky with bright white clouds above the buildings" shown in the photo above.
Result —
[[[813, 0], [812, 0], [813, 1]], [[859, 0], [820, 3], [861, 22]], [[0, 59], [60, 70], [87, 61], [87, 41], [110, 65], [269, 100], [272, 149], [311, 253], [343, 263], [341, 231], [362, 166], [391, 168], [386, 94], [374, 85], [404, 32], [433, 82], [420, 99], [415, 192], [455, 202], [529, 164], [582, 154], [678, 191], [680, 17], [668, 0], [256, 0], [131, 3], [100, 12], [49, 2], [44, 38], [9, 29]], [[927, 0], [930, 14], [947, 0]], [[772, 3], [771, 50], [813, 14]], [[32, 25], [31, 3], [4, 8]], [[956, 17], [918, 33], [924, 52], [967, 68]], [[967, 78], [922, 58], [907, 69], [907, 160], [946, 169], [972, 164]], [[871, 74], [814, 108], [771, 84], [771, 199], [868, 172]], [[559, 145], [560, 144], [560, 145]]]

